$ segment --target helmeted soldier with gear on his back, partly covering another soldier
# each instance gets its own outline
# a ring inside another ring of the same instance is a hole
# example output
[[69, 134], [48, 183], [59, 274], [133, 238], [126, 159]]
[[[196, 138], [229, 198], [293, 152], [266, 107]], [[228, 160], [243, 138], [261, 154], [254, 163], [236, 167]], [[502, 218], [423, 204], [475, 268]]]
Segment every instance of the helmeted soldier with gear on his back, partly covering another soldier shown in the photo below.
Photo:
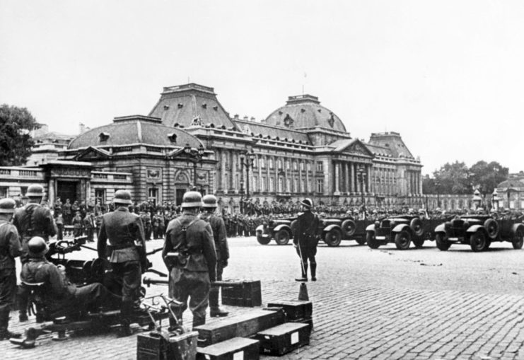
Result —
[[[189, 307], [193, 327], [206, 323], [211, 281], [216, 280], [216, 251], [211, 225], [199, 219], [202, 195], [189, 191], [182, 197], [182, 215], [169, 222], [162, 258], [169, 269], [169, 296], [182, 303], [173, 309], [178, 319]], [[170, 319], [170, 325], [175, 320]]]

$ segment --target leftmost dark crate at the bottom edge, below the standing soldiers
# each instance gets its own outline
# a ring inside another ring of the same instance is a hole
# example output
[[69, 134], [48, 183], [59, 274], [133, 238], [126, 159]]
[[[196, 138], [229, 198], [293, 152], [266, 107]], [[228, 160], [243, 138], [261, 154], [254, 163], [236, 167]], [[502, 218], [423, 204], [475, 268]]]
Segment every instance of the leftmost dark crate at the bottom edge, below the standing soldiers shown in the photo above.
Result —
[[198, 332], [186, 332], [167, 339], [157, 332], [136, 337], [136, 360], [191, 360], [197, 356]]

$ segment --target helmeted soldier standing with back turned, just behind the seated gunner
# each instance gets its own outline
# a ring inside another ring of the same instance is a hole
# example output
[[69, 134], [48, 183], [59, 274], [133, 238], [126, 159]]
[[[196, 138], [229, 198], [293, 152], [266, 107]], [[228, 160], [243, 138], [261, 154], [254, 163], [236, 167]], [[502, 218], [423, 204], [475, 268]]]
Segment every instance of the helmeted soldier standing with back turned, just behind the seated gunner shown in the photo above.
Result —
[[[44, 197], [44, 187], [38, 184], [30, 185], [25, 196], [29, 199], [28, 204], [26, 204], [25, 207], [17, 209], [13, 219], [13, 225], [16, 226], [18, 234], [21, 237], [22, 255], [20, 256], [20, 260], [22, 264], [29, 260], [28, 241], [30, 238], [40, 236], [40, 238], [48, 242], [51, 236], [57, 234], [57, 225], [54, 223], [50, 209], [42, 207], [40, 204]], [[28, 296], [28, 289], [26, 289], [25, 286], [21, 286], [20, 315], [18, 316], [20, 321], [28, 320]]]

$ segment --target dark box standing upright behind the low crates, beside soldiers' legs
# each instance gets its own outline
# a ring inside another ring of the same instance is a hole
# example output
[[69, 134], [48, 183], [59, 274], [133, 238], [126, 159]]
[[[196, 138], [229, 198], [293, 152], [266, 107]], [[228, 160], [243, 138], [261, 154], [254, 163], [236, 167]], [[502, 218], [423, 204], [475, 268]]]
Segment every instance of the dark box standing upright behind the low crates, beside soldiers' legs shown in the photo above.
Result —
[[262, 293], [260, 280], [226, 280], [235, 281], [231, 286], [222, 286], [222, 303], [231, 306], [261, 306]]

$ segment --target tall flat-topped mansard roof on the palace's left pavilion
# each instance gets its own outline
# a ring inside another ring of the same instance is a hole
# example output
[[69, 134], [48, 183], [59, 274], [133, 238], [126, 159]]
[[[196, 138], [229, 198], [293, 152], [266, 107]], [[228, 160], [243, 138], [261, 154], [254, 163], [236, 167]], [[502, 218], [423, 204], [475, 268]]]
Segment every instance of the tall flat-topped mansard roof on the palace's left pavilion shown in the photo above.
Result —
[[165, 87], [149, 116], [158, 117], [168, 127], [175, 124], [184, 127], [194, 124], [235, 126], [217, 100], [214, 89], [197, 83]]

